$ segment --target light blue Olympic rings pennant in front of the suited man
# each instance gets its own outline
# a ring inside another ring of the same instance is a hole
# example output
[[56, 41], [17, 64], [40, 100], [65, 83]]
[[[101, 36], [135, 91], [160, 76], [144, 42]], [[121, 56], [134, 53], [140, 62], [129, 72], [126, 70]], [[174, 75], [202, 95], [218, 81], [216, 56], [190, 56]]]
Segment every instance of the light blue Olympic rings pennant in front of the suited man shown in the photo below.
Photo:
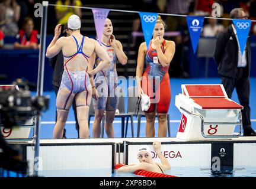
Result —
[[250, 19], [232, 19], [232, 21], [236, 28], [236, 35], [238, 38], [241, 54], [243, 54], [245, 50], [245, 45], [247, 43], [249, 29], [251, 28], [251, 20]]

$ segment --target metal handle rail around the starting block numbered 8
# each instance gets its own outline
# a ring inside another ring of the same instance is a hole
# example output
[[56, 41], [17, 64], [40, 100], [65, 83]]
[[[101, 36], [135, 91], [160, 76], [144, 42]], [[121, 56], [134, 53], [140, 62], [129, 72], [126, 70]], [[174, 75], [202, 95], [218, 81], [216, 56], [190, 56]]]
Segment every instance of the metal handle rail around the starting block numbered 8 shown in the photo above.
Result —
[[[204, 138], [238, 138], [239, 136], [241, 136], [241, 131], [242, 131], [242, 114], [241, 112], [239, 111], [239, 122], [235, 122], [235, 123], [225, 123], [225, 122], [204, 122], [204, 118], [202, 115], [198, 114], [198, 113], [194, 113], [194, 112], [190, 112], [186, 109], [184, 109], [183, 107], [180, 107], [182, 110], [184, 110], [185, 112], [187, 112], [188, 114], [190, 115], [194, 115], [194, 116], [197, 116], [200, 118], [201, 120], [201, 135], [204, 137]], [[239, 125], [239, 132], [238, 132], [238, 135], [214, 135], [214, 136], [211, 136], [211, 135], [205, 135], [204, 134], [204, 125]]]

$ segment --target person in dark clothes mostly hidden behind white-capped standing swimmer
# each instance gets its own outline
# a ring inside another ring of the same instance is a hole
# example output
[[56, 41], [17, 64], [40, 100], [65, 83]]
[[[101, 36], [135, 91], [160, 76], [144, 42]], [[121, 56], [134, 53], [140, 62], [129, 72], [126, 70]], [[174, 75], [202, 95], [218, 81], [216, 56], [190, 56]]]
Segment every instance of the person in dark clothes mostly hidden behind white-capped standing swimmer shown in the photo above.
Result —
[[[68, 29], [67, 24], [64, 25], [62, 33], [64, 36], [69, 36], [69, 29]], [[53, 89], [55, 90], [55, 94], [57, 96], [57, 92], [59, 90], [60, 82], [62, 79], [62, 73], [64, 71], [62, 51], [60, 51], [59, 54], [57, 54], [55, 57], [50, 58], [49, 61], [50, 61], [50, 66], [53, 69], [53, 79], [52, 79]], [[78, 131], [78, 138], [79, 138], [79, 125], [78, 125], [78, 119], [77, 119], [77, 115], [76, 115], [75, 100], [73, 100], [72, 106], [73, 106], [73, 110], [75, 113], [76, 130]], [[56, 111], [55, 120], [57, 120], [57, 111]], [[66, 138], [66, 129], [64, 129], [62, 138]]]

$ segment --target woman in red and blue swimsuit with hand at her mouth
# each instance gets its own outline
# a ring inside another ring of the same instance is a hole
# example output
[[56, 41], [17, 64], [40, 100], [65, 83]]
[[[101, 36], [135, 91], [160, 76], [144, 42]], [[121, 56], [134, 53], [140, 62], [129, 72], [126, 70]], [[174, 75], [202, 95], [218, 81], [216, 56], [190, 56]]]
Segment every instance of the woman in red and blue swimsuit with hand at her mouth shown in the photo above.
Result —
[[[171, 86], [169, 83], [169, 64], [175, 53], [174, 41], [164, 39], [165, 23], [158, 16], [153, 30], [153, 39], [147, 50], [146, 43], [143, 42], [139, 47], [137, 57], [136, 80], [138, 87], [138, 95], [141, 97], [143, 93], [151, 97], [151, 106], [146, 114], [146, 137], [155, 137], [155, 109], [157, 104], [158, 115], [158, 136], [165, 137], [167, 135], [167, 113], [171, 102]], [[146, 56], [146, 70], [143, 73], [144, 60]], [[142, 77], [143, 73], [143, 77]], [[156, 85], [156, 80], [160, 80], [160, 84]], [[141, 84], [142, 80], [142, 84]], [[156, 93], [153, 96], [153, 93]], [[152, 99], [155, 98], [155, 103]]]

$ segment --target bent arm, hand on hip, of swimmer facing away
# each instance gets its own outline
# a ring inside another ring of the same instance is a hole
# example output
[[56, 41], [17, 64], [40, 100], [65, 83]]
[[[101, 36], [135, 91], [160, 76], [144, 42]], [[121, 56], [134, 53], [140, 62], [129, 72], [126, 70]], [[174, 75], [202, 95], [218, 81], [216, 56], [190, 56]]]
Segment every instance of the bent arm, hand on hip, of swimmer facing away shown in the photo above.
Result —
[[98, 63], [98, 66], [95, 67], [94, 70], [89, 72], [90, 77], [94, 76], [96, 73], [103, 70], [105, 67], [110, 66], [110, 57], [108, 56], [107, 52], [104, 50], [103, 47], [101, 47], [100, 44], [98, 44], [97, 41], [94, 40], [94, 43], [95, 43], [94, 53], [96, 53], [100, 57], [101, 61], [100, 63]]

